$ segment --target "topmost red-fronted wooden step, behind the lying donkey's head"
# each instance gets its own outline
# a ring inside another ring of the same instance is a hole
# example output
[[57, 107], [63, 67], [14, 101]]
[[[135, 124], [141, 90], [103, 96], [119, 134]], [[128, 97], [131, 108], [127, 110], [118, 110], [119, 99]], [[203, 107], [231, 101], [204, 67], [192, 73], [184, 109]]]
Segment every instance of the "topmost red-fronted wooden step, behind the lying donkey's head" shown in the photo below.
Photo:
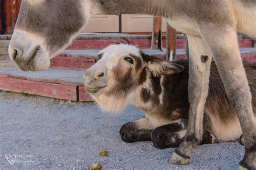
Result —
[[[67, 47], [67, 50], [104, 49], [110, 44], [122, 42], [120, 37], [129, 39], [132, 45], [137, 45], [140, 49], [149, 49], [151, 46], [151, 35], [131, 35], [125, 33], [79, 33], [71, 45]], [[176, 38], [176, 48], [185, 49], [186, 36], [180, 34], [177, 35]], [[1, 35], [0, 47], [1, 41], [9, 43], [10, 39], [11, 35]], [[238, 43], [240, 48], [249, 48], [254, 46], [254, 41], [243, 35], [238, 35]], [[166, 35], [163, 35], [163, 47], [166, 47]]]

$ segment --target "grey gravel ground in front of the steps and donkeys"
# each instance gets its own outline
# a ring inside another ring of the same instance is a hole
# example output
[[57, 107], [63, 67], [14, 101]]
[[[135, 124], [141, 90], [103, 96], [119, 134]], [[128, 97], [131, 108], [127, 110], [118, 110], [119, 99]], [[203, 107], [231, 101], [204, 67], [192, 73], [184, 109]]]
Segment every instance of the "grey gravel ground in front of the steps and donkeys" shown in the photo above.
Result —
[[[244, 147], [235, 142], [201, 145], [185, 166], [168, 163], [174, 148], [123, 142], [119, 128], [142, 115], [132, 106], [110, 115], [95, 103], [0, 92], [0, 169], [237, 169]], [[13, 165], [5, 154], [16, 155]]]

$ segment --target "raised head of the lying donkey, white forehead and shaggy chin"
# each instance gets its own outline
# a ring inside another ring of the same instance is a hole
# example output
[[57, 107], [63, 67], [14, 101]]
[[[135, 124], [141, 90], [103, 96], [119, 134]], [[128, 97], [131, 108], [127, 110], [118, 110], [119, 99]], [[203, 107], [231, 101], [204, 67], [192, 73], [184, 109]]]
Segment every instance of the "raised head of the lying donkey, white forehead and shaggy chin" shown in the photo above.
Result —
[[137, 102], [144, 87], [150, 89], [152, 76], [183, 70], [183, 66], [145, 55], [135, 46], [110, 45], [85, 72], [85, 90], [104, 111], [119, 112]]

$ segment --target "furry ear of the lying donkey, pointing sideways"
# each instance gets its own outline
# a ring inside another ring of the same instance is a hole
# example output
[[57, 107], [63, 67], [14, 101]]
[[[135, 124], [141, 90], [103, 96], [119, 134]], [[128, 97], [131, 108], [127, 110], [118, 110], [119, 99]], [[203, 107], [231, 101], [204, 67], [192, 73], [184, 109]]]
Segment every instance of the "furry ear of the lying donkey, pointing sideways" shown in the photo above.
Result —
[[172, 62], [165, 62], [160, 59], [155, 59], [155, 60], [150, 60], [147, 62], [146, 66], [154, 76], [159, 75], [159, 74], [175, 74], [175, 73], [180, 73], [183, 72], [184, 66], [172, 63]]

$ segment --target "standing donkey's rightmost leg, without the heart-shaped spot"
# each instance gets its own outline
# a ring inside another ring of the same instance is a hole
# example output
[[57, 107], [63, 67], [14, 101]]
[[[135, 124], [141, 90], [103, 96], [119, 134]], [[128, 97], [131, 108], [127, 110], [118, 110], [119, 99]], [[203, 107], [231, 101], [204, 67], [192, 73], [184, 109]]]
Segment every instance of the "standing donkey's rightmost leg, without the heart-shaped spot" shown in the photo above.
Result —
[[[252, 96], [239, 53], [237, 32], [226, 26], [201, 29], [210, 47], [220, 77], [231, 104], [238, 113], [245, 144], [245, 155], [239, 168], [256, 169], [256, 119], [252, 110]], [[218, 37], [216, 36], [218, 35]]]

